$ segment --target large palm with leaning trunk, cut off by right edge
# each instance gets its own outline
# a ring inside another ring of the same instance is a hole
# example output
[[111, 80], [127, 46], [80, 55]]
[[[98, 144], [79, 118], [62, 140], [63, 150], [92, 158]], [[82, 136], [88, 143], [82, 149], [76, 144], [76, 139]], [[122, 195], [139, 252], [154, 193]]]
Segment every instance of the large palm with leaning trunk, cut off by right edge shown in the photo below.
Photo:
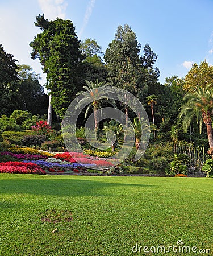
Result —
[[193, 94], [189, 93], [183, 97], [186, 103], [180, 108], [181, 113], [179, 118], [183, 118], [183, 128], [185, 131], [189, 127], [193, 118], [197, 118], [199, 122], [200, 133], [202, 131], [202, 124], [206, 125], [208, 143], [210, 149], [213, 148], [213, 129], [212, 129], [212, 117], [213, 117], [213, 87], [212, 84], [208, 84], [205, 87], [197, 87]]

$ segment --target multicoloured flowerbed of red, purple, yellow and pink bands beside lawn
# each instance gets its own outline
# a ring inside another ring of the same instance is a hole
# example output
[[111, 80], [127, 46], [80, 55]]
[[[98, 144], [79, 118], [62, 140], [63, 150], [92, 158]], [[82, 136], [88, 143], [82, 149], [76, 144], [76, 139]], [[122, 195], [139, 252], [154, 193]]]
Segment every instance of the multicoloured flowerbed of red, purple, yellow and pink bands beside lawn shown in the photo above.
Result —
[[[83, 153], [69, 152], [51, 154], [34, 150], [28, 147], [11, 147], [10, 152], [2, 152], [1, 155], [11, 156], [11, 158], [22, 162], [0, 163], [0, 172], [18, 174], [46, 174], [46, 172], [87, 172], [87, 168], [112, 167], [114, 164], [84, 155]], [[54, 157], [53, 157], [54, 156]], [[73, 157], [74, 159], [73, 159]]]

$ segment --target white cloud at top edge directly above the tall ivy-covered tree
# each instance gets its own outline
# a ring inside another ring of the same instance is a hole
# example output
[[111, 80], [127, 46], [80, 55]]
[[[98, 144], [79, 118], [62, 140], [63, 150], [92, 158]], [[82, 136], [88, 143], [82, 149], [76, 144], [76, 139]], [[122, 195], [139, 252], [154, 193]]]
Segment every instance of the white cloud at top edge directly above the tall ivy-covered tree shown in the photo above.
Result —
[[65, 19], [68, 4], [64, 0], [38, 0], [38, 2], [45, 18], [51, 20]]

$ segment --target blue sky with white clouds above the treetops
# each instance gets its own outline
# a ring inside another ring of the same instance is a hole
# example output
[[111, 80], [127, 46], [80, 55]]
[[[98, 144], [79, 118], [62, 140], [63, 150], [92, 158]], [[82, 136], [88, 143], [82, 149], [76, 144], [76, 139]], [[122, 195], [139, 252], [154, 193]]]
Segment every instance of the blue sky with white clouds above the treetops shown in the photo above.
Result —
[[[42, 73], [29, 43], [40, 32], [35, 16], [70, 19], [80, 40], [96, 39], [105, 52], [116, 28], [128, 24], [141, 48], [158, 55], [160, 82], [184, 77], [192, 63], [213, 64], [213, 0], [0, 0], [0, 44], [20, 64]], [[45, 83], [45, 76], [41, 84]]]

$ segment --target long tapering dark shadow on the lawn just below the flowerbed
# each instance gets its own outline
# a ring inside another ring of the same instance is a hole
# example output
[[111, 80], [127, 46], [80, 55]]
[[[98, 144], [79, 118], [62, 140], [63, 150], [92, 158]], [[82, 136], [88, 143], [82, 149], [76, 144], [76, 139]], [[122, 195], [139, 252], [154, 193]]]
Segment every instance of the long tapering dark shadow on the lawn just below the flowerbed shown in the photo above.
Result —
[[147, 184], [110, 183], [83, 179], [7, 179], [0, 180], [0, 194], [51, 196], [119, 196], [128, 189], [156, 187]]

